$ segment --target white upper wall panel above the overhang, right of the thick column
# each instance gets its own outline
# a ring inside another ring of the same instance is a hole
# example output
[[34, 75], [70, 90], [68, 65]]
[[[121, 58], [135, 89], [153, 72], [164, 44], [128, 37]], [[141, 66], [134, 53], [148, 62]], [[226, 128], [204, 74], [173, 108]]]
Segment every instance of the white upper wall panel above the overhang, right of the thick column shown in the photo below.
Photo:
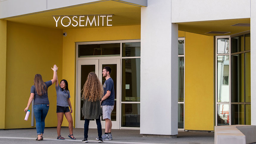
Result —
[[250, 0], [171, 0], [171, 22], [250, 18]]

